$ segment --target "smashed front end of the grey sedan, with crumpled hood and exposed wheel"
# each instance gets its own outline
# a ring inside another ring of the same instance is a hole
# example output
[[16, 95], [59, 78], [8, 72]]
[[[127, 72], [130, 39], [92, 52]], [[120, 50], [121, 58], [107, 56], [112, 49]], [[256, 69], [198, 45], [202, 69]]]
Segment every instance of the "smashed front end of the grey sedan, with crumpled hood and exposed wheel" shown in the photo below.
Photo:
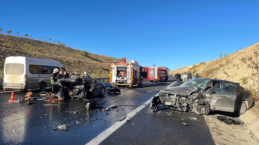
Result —
[[170, 87], [153, 96], [149, 109], [156, 112], [158, 107], [165, 106], [183, 112], [207, 115], [210, 111], [208, 101], [209, 98], [198, 87]]

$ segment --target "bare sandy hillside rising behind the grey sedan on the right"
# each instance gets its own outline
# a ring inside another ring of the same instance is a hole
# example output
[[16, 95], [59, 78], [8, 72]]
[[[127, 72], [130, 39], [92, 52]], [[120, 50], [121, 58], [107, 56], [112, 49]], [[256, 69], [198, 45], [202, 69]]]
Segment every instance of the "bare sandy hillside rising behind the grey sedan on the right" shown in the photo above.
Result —
[[[249, 79], [249, 83], [256, 89], [258, 85], [258, 82], [256, 81], [257, 76], [255, 75], [257, 73], [256, 69], [247, 68], [247, 64], [244, 64], [241, 60], [242, 57], [252, 56], [254, 50], [259, 52], [259, 43], [217, 60], [202, 62], [200, 64], [173, 70], [170, 74], [186, 74], [188, 71], [191, 71], [193, 75], [198, 73], [201, 78], [217, 78], [240, 83], [240, 79], [245, 77]], [[243, 86], [246, 88], [249, 87], [248, 85]]]

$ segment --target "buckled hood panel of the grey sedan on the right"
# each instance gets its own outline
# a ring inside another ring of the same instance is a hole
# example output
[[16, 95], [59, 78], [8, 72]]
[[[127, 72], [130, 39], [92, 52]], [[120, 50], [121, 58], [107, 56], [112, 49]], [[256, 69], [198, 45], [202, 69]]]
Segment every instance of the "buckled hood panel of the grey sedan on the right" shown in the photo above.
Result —
[[160, 92], [170, 93], [175, 95], [184, 95], [187, 97], [188, 95], [191, 95], [193, 92], [196, 92], [197, 90], [199, 90], [199, 88], [195, 86], [177, 86], [177, 87], [166, 88]]

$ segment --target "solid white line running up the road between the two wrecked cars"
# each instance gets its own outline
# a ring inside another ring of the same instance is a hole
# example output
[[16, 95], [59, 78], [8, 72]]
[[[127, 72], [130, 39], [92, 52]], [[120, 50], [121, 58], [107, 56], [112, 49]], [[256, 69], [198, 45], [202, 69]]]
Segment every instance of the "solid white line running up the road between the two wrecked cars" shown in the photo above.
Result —
[[[168, 87], [171, 87], [172, 85], [174, 85], [176, 82], [172, 83], [171, 85], [169, 85]], [[166, 88], [168, 88], [166, 87]], [[165, 88], [165, 89], [166, 89]], [[157, 93], [156, 95], [158, 95], [159, 93]], [[145, 102], [146, 105], [150, 104], [151, 100], [153, 97], [151, 97], [149, 100], [147, 100]], [[130, 112], [129, 114], [127, 114], [127, 118], [124, 119], [123, 121], [118, 121], [115, 124], [113, 124], [111, 127], [109, 127], [108, 129], [106, 129], [105, 131], [103, 131], [102, 133], [100, 133], [97, 137], [95, 137], [94, 139], [92, 139], [91, 141], [89, 141], [87, 144], [85, 145], [98, 145], [100, 144], [103, 140], [105, 140], [108, 136], [110, 136], [113, 132], [115, 132], [117, 129], [119, 129], [124, 123], [126, 123], [127, 119], [132, 118], [134, 115], [136, 115], [139, 111], [141, 111], [144, 107], [146, 107], [146, 105], [141, 105], [139, 106], [137, 109], [133, 110], [132, 112]]]

